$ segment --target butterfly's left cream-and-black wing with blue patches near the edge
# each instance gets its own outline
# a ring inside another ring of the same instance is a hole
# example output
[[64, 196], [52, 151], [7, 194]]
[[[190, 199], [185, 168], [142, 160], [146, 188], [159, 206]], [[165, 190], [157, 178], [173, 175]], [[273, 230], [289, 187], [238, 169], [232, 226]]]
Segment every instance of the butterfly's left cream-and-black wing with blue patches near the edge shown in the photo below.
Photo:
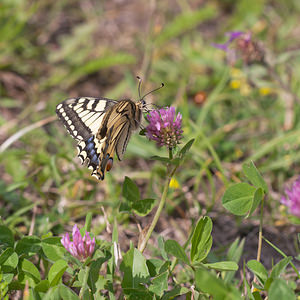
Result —
[[99, 155], [106, 140], [96, 138], [103, 118], [118, 101], [107, 98], [71, 98], [56, 107], [56, 113], [70, 135], [78, 141], [81, 163], [87, 163], [92, 174], [97, 173]]

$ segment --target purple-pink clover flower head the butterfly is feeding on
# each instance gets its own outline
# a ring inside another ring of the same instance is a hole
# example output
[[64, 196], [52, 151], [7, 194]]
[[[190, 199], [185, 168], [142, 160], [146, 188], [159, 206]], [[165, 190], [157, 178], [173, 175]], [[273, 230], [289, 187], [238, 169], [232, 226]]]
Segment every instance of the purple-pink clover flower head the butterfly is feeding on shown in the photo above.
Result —
[[173, 149], [182, 138], [182, 115], [175, 118], [175, 107], [166, 107], [153, 110], [147, 115], [149, 125], [146, 127], [146, 136], [157, 143], [159, 147], [166, 146]]

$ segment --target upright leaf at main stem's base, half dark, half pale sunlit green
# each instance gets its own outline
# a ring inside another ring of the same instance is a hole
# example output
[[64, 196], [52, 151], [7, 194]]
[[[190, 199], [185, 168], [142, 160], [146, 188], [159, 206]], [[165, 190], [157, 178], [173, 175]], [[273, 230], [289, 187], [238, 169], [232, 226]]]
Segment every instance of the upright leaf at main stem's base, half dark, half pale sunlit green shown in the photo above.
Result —
[[141, 287], [141, 283], [149, 282], [150, 274], [146, 259], [142, 253], [135, 248], [131, 248], [124, 255], [120, 269], [124, 273], [122, 280], [124, 292], [126, 289], [138, 289]]

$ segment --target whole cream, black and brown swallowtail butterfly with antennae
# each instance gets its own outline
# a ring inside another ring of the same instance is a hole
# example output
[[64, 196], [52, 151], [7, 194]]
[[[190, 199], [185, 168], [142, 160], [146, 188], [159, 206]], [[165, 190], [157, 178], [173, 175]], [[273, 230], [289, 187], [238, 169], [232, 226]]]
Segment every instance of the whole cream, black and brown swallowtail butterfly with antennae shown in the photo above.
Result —
[[145, 96], [112, 100], [108, 98], [70, 98], [56, 106], [56, 114], [69, 134], [78, 142], [78, 157], [92, 170], [91, 175], [103, 180], [113, 166], [114, 155], [122, 160], [131, 134], [141, 126], [143, 112], [149, 112]]

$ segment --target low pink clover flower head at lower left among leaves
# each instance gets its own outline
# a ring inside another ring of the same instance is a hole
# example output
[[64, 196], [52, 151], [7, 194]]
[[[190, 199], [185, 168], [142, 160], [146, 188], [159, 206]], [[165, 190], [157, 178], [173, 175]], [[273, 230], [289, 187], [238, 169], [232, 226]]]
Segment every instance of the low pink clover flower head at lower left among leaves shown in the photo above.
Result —
[[92, 256], [95, 250], [95, 238], [91, 239], [89, 232], [86, 232], [84, 237], [81, 236], [80, 231], [75, 224], [72, 231], [73, 241], [71, 242], [69, 233], [63, 235], [61, 239], [62, 245], [79, 260], [85, 260]]

